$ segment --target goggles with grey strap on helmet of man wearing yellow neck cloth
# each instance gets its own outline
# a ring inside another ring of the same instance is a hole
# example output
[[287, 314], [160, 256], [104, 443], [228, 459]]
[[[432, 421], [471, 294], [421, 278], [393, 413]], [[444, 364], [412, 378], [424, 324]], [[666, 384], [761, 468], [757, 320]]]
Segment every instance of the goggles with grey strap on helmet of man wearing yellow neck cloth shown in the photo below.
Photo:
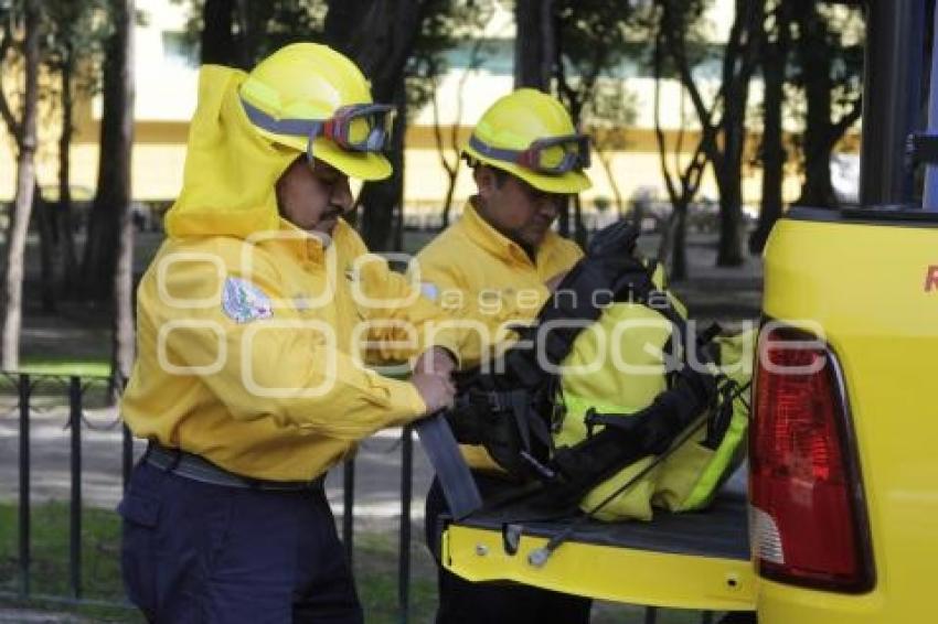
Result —
[[307, 155], [312, 160], [312, 141], [317, 137], [331, 140], [343, 150], [381, 152], [391, 140], [395, 110], [386, 104], [343, 106], [329, 119], [277, 119], [256, 106], [241, 100], [252, 123], [275, 135], [306, 137]]

